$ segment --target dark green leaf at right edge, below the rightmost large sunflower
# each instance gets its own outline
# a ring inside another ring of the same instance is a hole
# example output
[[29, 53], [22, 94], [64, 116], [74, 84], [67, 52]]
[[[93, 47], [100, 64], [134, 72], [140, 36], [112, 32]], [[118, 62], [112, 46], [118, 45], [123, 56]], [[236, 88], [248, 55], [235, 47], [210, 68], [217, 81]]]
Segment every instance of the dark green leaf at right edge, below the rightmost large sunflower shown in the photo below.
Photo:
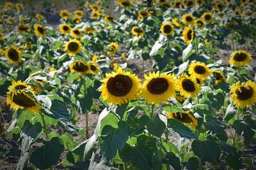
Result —
[[237, 134], [243, 135], [246, 143], [250, 142], [250, 139], [254, 136], [255, 132], [252, 131], [250, 125], [241, 120], [235, 120], [233, 127], [236, 130]]

